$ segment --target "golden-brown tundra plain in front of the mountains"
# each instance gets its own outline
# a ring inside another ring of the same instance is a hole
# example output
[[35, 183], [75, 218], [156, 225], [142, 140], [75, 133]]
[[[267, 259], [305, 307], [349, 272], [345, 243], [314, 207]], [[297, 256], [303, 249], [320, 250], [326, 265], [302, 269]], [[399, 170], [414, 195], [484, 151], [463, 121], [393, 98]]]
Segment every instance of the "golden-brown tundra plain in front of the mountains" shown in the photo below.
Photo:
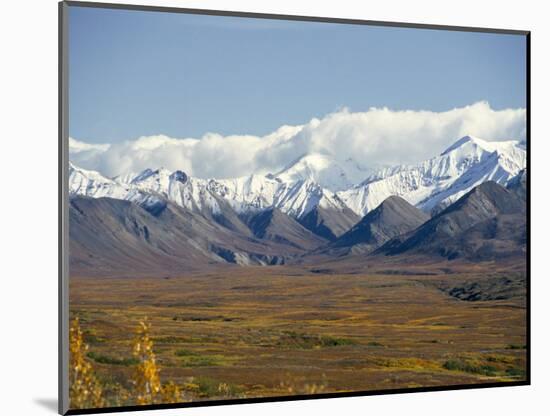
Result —
[[524, 380], [525, 293], [445, 290], [509, 269], [430, 270], [71, 277], [71, 408]]

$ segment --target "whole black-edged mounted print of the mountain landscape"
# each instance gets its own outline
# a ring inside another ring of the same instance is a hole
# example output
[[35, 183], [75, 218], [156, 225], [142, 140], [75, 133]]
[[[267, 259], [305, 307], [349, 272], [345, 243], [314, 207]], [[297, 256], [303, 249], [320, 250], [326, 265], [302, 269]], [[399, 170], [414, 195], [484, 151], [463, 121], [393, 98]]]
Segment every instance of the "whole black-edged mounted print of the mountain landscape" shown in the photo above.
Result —
[[529, 32], [59, 23], [60, 413], [530, 383]]

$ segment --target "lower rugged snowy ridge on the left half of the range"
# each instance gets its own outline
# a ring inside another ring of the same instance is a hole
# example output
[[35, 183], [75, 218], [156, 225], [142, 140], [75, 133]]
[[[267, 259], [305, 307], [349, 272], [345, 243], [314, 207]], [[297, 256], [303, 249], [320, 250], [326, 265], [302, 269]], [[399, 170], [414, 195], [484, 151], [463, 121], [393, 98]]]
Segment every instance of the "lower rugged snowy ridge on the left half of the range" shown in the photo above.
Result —
[[279, 178], [259, 175], [223, 180], [199, 179], [179, 170], [170, 172], [160, 168], [146, 169], [125, 183], [71, 164], [69, 184], [71, 194], [136, 203], [154, 196], [166, 198], [194, 212], [211, 214], [219, 213], [220, 201], [223, 200], [239, 214], [278, 208], [297, 218], [317, 206], [336, 210], [345, 208], [335, 193], [311, 180], [286, 183]]

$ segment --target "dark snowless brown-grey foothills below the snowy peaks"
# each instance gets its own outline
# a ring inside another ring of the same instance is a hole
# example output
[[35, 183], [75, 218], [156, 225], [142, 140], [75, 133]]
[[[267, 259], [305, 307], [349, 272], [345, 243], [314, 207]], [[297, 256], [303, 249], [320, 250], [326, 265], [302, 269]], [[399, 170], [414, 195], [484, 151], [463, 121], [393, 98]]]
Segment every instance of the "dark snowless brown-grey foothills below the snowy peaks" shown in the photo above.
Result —
[[[513, 184], [525, 183], [524, 177], [518, 175]], [[365, 256], [369, 262], [397, 255], [482, 261], [513, 258], [525, 254], [527, 236], [525, 199], [512, 188], [483, 183], [432, 218], [403, 198], [391, 196], [333, 240], [277, 208], [237, 215], [221, 201], [222, 211], [216, 215], [223, 215], [222, 221], [158, 195], [132, 201], [73, 195], [69, 203], [71, 273], [173, 275], [220, 264], [345, 263], [348, 259], [358, 264]]]

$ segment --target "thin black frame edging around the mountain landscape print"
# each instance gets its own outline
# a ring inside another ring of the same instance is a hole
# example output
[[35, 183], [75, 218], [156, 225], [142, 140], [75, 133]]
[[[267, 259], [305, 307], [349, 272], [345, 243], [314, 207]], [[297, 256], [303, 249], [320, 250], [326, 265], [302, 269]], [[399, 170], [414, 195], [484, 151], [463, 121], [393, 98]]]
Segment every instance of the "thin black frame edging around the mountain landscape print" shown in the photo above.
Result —
[[526, 46], [526, 142], [527, 142], [527, 170], [531, 171], [531, 32], [528, 30], [509, 30], [500, 28], [481, 28], [468, 26], [447, 26], [438, 24], [417, 24], [407, 22], [387, 22], [375, 20], [360, 20], [346, 18], [330, 18], [319, 16], [297, 16], [284, 14], [268, 14], [268, 13], [250, 13], [243, 11], [225, 11], [225, 10], [209, 10], [209, 9], [189, 9], [179, 7], [161, 7], [161, 6], [145, 6], [136, 4], [118, 4], [118, 3], [98, 3], [98, 2], [82, 2], [82, 1], [62, 1], [58, 3], [58, 24], [59, 24], [59, 60], [58, 60], [58, 114], [59, 114], [59, 137], [58, 137], [58, 308], [59, 308], [59, 334], [58, 334], [58, 412], [62, 415], [77, 415], [77, 414], [92, 414], [92, 413], [112, 413], [123, 411], [142, 411], [142, 410], [158, 410], [158, 409], [176, 409], [188, 407], [208, 407], [230, 404], [245, 404], [245, 403], [268, 403], [268, 402], [285, 402], [296, 400], [314, 400], [324, 398], [344, 398], [344, 397], [363, 397], [373, 395], [388, 395], [401, 393], [420, 393], [420, 392], [436, 392], [448, 390], [467, 390], [467, 389], [484, 389], [494, 387], [514, 387], [526, 386], [531, 384], [531, 176], [527, 176], [527, 263], [526, 263], [526, 376], [524, 380], [513, 382], [494, 382], [484, 384], [460, 384], [434, 387], [414, 387], [414, 388], [397, 388], [385, 390], [369, 390], [369, 391], [354, 391], [354, 392], [339, 392], [339, 393], [317, 393], [308, 395], [293, 395], [279, 397], [258, 397], [246, 399], [227, 399], [227, 400], [211, 400], [201, 402], [185, 402], [176, 404], [154, 404], [141, 406], [120, 406], [120, 407], [105, 407], [105, 408], [90, 408], [90, 409], [69, 409], [68, 400], [68, 334], [69, 334], [69, 299], [68, 299], [68, 283], [69, 283], [69, 263], [68, 263], [68, 8], [69, 7], [88, 7], [101, 8], [112, 10], [135, 10], [147, 12], [168, 12], [180, 14], [195, 14], [195, 15], [210, 15], [210, 16], [232, 16], [255, 19], [275, 19], [275, 20], [291, 20], [301, 22], [326, 22], [347, 25], [368, 25], [368, 26], [385, 26], [397, 28], [414, 28], [419, 30], [443, 30], [443, 31], [463, 31], [463, 32], [481, 32], [493, 34], [508, 34], [520, 35], [525, 37]]

